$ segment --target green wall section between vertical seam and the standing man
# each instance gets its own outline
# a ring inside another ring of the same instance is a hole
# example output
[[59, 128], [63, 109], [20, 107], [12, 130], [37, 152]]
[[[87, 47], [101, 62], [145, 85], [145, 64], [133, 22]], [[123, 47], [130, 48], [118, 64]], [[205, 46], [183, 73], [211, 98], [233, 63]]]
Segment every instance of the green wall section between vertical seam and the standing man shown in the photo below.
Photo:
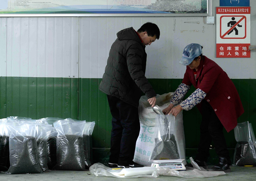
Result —
[[111, 113], [101, 79], [79, 79], [79, 120], [95, 121], [93, 147], [110, 147]]

